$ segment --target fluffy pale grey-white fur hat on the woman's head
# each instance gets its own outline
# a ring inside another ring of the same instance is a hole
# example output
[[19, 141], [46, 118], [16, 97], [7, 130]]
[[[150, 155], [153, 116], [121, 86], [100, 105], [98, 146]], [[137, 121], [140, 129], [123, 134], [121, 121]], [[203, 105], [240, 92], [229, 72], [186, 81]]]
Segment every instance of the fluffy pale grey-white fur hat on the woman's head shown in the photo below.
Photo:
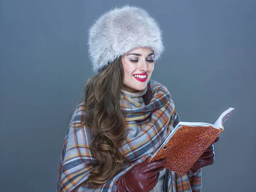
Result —
[[158, 23], [136, 6], [115, 8], [99, 17], [89, 29], [88, 45], [94, 73], [137, 47], [150, 47], [154, 60], [164, 50]]

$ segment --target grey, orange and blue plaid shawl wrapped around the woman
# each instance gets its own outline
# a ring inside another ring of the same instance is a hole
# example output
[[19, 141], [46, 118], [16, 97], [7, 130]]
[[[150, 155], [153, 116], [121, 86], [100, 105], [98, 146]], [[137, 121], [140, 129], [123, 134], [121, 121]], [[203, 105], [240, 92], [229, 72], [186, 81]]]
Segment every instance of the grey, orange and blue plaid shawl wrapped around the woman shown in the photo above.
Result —
[[[84, 117], [84, 103], [76, 107], [64, 138], [59, 165], [57, 192], [114, 192], [116, 181], [132, 166], [151, 158], [157, 148], [174, 129], [180, 119], [174, 110], [171, 94], [157, 81], [148, 82], [151, 93], [149, 104], [142, 106], [128, 94], [121, 92], [120, 107], [126, 119], [126, 134], [119, 150], [128, 163], [123, 170], [102, 186], [90, 186], [86, 180], [97, 160], [92, 157], [89, 145], [93, 132], [88, 127], [73, 128]], [[140, 131], [137, 131], [139, 128]], [[180, 176], [167, 170], [166, 192], [200, 192], [201, 170], [197, 175]]]

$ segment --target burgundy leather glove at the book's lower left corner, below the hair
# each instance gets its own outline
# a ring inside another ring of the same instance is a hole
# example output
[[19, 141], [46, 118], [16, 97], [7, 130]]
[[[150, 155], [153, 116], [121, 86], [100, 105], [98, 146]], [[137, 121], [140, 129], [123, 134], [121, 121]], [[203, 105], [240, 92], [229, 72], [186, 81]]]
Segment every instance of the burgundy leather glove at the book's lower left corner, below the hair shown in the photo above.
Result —
[[116, 192], [149, 192], [157, 184], [166, 160], [144, 161], [133, 166], [117, 180]]

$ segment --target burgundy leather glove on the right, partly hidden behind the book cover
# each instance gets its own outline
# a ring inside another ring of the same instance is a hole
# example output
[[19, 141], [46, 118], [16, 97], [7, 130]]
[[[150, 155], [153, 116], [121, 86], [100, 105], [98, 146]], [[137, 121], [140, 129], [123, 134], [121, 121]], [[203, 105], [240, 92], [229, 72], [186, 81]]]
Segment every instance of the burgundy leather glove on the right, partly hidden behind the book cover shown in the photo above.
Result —
[[[213, 143], [216, 143], [218, 140], [219, 138], [217, 137]], [[209, 148], [207, 148], [207, 150], [201, 155], [201, 157], [199, 157], [199, 159], [188, 170], [187, 174], [189, 176], [195, 175], [200, 168], [208, 165], [212, 165], [215, 158], [214, 156], [215, 156], [214, 147], [213, 145], [210, 145]]]

